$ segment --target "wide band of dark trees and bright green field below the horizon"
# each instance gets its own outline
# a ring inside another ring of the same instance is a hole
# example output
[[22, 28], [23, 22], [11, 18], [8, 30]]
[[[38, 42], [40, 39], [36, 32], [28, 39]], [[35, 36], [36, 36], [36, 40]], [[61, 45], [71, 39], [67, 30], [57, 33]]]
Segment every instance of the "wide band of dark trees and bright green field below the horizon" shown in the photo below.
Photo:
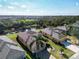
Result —
[[[1, 19], [1, 18], [0, 18]], [[15, 18], [14, 18], [15, 19]], [[41, 16], [32, 19], [19, 18], [13, 20], [6, 18], [0, 20], [0, 34], [12, 31], [24, 31], [26, 28], [45, 28], [47, 26], [63, 26], [79, 20], [79, 16]]]

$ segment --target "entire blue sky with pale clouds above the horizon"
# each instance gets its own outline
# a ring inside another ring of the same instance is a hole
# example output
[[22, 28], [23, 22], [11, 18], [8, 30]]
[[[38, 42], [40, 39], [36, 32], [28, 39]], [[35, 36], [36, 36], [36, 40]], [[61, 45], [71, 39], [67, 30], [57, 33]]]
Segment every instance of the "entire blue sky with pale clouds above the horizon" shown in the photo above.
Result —
[[0, 15], [79, 15], [79, 0], [0, 0]]

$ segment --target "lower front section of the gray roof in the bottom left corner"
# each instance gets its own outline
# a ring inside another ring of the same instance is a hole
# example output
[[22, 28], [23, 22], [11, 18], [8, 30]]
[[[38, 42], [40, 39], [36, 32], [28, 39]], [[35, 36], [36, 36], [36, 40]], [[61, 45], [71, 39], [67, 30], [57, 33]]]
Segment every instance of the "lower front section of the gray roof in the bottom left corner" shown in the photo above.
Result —
[[0, 47], [0, 59], [23, 59], [24, 51], [17, 46], [6, 44]]

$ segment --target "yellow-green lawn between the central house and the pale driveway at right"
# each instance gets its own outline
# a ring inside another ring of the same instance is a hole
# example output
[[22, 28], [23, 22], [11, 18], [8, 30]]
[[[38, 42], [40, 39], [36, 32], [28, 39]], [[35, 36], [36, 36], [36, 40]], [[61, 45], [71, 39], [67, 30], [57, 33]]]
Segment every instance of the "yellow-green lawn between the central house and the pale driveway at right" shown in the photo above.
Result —
[[[56, 59], [60, 59], [60, 54], [59, 54], [60, 49], [63, 49], [63, 50], [64, 50], [64, 54], [65, 54], [68, 58], [71, 57], [71, 56], [74, 54], [74, 52], [72, 52], [72, 51], [70, 51], [70, 50], [68, 50], [68, 49], [66, 49], [66, 48], [63, 48], [62, 46], [59, 46], [59, 45], [55, 44], [55, 43], [52, 42], [51, 40], [48, 40], [47, 43], [48, 43], [51, 47], [54, 47], [54, 48], [55, 48], [55, 51], [52, 51], [51, 54], [52, 54], [54, 57], [56, 57]], [[63, 57], [63, 59], [65, 59], [65, 58]]]

